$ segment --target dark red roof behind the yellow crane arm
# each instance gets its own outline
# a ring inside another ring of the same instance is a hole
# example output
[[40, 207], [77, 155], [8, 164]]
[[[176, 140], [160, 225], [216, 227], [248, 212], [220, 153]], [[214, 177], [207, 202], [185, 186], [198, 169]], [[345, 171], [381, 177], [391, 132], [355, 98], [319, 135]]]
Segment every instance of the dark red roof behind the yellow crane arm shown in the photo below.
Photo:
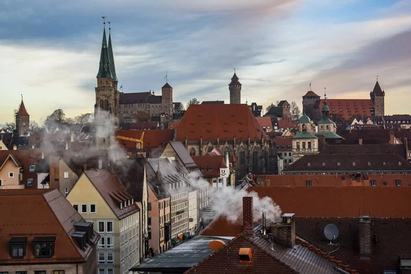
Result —
[[[129, 138], [140, 139], [142, 133], [145, 132], [142, 140], [143, 146], [146, 149], [162, 147], [167, 142], [173, 140], [174, 129], [157, 129], [157, 130], [117, 130], [116, 136], [124, 136]], [[127, 140], [119, 140], [119, 143], [127, 149], [135, 149], [136, 142]]]

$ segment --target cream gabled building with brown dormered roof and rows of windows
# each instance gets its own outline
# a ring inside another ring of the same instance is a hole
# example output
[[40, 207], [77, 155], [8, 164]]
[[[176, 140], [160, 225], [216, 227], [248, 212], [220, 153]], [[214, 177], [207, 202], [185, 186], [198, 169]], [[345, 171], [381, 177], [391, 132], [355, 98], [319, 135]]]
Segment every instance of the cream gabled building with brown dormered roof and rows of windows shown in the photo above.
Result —
[[99, 274], [129, 273], [140, 263], [140, 216], [134, 198], [110, 171], [84, 172], [67, 200], [100, 234]]

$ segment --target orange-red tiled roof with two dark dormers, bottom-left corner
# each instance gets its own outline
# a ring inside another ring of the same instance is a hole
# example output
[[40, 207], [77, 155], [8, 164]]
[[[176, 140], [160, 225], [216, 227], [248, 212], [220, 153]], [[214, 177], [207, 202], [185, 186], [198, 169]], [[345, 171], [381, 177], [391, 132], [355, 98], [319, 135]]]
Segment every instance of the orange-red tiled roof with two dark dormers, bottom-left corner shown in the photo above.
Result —
[[[84, 222], [84, 219], [56, 189], [1, 190], [0, 219], [0, 264], [75, 263], [95, 256], [93, 247], [88, 246], [83, 251], [72, 239], [73, 224]], [[10, 258], [12, 237], [27, 237], [24, 258]], [[52, 258], [34, 257], [32, 241], [35, 237], [55, 237]], [[95, 242], [98, 238], [95, 233]]]

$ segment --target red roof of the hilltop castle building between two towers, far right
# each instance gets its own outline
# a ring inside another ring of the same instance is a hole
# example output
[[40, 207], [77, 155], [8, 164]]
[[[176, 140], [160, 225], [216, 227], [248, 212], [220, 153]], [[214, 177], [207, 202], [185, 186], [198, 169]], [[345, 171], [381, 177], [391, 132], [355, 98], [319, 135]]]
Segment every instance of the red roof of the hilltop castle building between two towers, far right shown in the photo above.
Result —
[[[323, 108], [324, 99], [321, 99], [320, 109]], [[356, 114], [362, 116], [371, 116], [371, 108], [374, 108], [371, 99], [328, 99], [329, 114], [341, 114], [342, 118], [349, 120], [350, 116]], [[357, 113], [358, 112], [358, 113]]]

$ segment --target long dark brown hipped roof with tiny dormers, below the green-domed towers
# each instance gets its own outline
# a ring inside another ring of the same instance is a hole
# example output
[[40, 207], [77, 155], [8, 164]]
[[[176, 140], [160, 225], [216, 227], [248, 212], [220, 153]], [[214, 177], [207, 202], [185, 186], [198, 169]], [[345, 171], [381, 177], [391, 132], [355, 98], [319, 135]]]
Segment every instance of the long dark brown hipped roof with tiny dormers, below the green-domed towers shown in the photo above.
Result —
[[397, 154], [313, 154], [286, 166], [284, 173], [292, 172], [411, 172], [411, 163]]

